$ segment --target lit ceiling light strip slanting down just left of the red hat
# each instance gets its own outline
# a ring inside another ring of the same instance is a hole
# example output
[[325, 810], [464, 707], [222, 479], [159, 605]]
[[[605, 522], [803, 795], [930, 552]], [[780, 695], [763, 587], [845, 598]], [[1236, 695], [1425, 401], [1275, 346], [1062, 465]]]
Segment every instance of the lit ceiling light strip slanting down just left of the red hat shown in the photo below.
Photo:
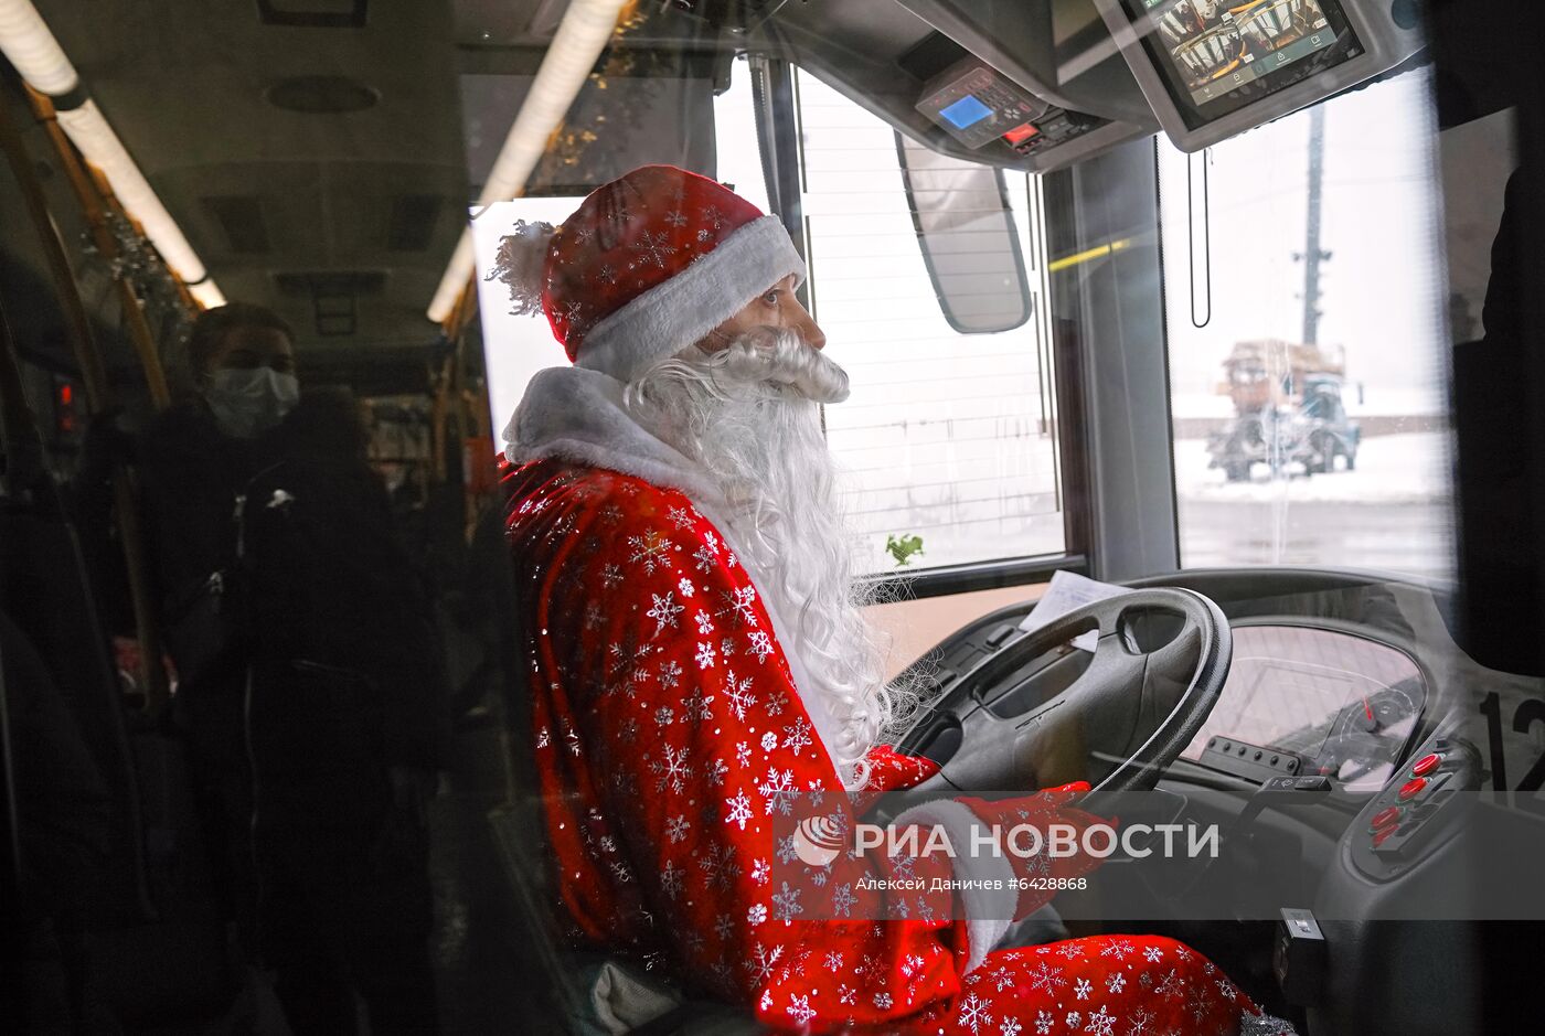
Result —
[[[586, 77], [606, 49], [612, 31], [627, 0], [573, 0], [553, 36], [531, 90], [510, 127], [510, 136], [499, 148], [488, 181], [477, 202], [490, 205], [521, 193], [536, 162], [547, 150], [547, 141], [569, 114], [569, 105], [579, 96]], [[456, 298], [473, 275], [473, 238], [464, 229], [451, 255], [440, 287], [430, 303], [430, 320], [443, 323], [456, 306]]]

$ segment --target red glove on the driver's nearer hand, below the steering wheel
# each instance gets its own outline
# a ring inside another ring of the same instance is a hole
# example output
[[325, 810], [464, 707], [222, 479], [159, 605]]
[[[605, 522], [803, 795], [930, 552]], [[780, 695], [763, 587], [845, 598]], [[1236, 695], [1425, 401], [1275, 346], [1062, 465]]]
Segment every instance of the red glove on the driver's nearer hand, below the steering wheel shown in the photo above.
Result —
[[[976, 817], [1000, 831], [1000, 845], [1009, 857], [1009, 866], [1020, 879], [1020, 899], [1015, 906], [1014, 920], [1023, 920], [1058, 892], [1058, 883], [1082, 877], [1100, 866], [1102, 857], [1089, 855], [1083, 851], [1083, 832], [1097, 823], [1115, 826], [1115, 818], [1095, 817], [1082, 809], [1069, 806], [1074, 800], [1089, 791], [1086, 781], [1075, 781], [1060, 787], [1049, 787], [1034, 795], [1020, 798], [1004, 798], [987, 801], [986, 798], [956, 798]], [[1010, 831], [1021, 824], [1029, 824], [1040, 832], [1037, 841], [1034, 835], [1021, 832], [1010, 837]], [[1052, 855], [1051, 824], [1065, 824], [1074, 829], [1078, 851], [1072, 855]], [[1021, 855], [1031, 849], [1038, 852]], [[1018, 849], [1018, 851], [1017, 851]]]

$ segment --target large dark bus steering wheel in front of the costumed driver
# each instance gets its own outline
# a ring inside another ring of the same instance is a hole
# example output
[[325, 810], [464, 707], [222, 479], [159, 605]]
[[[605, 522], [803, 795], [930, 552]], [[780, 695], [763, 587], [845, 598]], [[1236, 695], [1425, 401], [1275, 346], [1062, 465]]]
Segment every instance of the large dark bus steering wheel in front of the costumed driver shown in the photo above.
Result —
[[[1092, 656], [1043, 659], [1089, 630], [1098, 630]], [[1224, 613], [1191, 590], [1134, 590], [1069, 611], [1009, 641], [925, 707], [896, 749], [942, 769], [890, 795], [887, 812], [1075, 780], [1092, 786], [1085, 803], [1151, 789], [1213, 710], [1231, 656]]]

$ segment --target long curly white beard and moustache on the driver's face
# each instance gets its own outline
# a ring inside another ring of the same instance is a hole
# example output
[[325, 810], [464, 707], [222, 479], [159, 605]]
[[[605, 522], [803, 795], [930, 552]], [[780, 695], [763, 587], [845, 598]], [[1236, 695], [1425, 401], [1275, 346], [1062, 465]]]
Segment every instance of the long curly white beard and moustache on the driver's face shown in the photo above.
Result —
[[[700, 463], [729, 503], [723, 520], [749, 573], [789, 627], [785, 636], [837, 726], [831, 750], [848, 787], [910, 695], [884, 678], [884, 644], [861, 611], [853, 542], [837, 503], [820, 403], [848, 395], [848, 375], [791, 333], [765, 329], [718, 352], [691, 347], [627, 386], [655, 435]], [[808, 707], [808, 706], [806, 706]]]

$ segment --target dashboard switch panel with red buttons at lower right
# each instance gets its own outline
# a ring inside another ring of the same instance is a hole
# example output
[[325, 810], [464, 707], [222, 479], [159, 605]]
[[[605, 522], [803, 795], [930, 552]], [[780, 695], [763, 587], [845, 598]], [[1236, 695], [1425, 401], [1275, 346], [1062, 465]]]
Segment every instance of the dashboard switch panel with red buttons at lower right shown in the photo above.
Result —
[[1457, 818], [1454, 800], [1462, 791], [1477, 791], [1480, 775], [1480, 752], [1472, 744], [1431, 738], [1358, 815], [1352, 832], [1358, 869], [1387, 879], [1415, 862]]

